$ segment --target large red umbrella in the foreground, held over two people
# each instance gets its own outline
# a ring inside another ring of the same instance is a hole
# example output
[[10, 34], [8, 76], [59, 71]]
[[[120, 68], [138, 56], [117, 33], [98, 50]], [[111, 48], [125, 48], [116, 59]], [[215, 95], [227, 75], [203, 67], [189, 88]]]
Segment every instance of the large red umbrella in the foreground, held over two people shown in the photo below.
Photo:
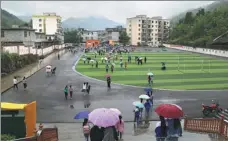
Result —
[[155, 109], [155, 112], [165, 118], [180, 118], [184, 115], [180, 106], [176, 104], [161, 104]]

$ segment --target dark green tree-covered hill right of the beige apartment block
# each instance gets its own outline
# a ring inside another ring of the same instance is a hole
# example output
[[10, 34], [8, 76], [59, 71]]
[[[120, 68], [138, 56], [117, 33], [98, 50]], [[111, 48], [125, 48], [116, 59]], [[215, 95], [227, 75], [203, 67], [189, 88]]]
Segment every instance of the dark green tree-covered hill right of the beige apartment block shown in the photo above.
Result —
[[[227, 2], [228, 4], [228, 2]], [[170, 43], [210, 47], [213, 39], [228, 31], [228, 6], [211, 7], [210, 11], [200, 9], [196, 14], [187, 12], [170, 31]], [[220, 41], [228, 41], [226, 36]]]

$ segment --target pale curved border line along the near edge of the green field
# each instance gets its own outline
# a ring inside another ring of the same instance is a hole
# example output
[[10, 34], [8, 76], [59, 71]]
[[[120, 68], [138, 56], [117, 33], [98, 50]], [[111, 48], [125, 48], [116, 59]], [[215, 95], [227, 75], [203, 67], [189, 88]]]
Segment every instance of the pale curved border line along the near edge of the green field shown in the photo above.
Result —
[[[77, 74], [80, 75], [80, 76], [86, 77], [86, 78], [88, 78], [88, 79], [91, 79], [91, 80], [95, 80], [95, 81], [98, 81], [98, 82], [105, 83], [104, 80], [99, 80], [99, 79], [96, 79], [96, 78], [92, 78], [92, 77], [89, 77], [89, 76], [87, 76], [87, 75], [84, 75], [84, 74], [78, 72], [75, 68], [76, 68], [76, 66], [77, 66], [77, 64], [78, 64], [78, 62], [79, 62], [79, 60], [80, 60], [80, 58], [81, 58], [81, 55], [80, 55], [80, 56], [77, 56], [77, 57], [78, 57], [78, 60], [77, 60], [77, 61], [74, 63], [74, 65], [72, 66], [72, 69], [73, 69], [73, 71], [74, 71], [75, 73], [77, 73]], [[132, 88], [145, 88], [145, 87], [142, 87], [142, 86], [133, 86], [133, 85], [126, 85], [126, 84], [119, 84], [119, 83], [112, 83], [112, 84], [118, 85], [118, 86], [132, 87]], [[204, 91], [204, 92], [208, 92], [208, 91], [215, 91], [215, 92], [217, 92], [217, 91], [227, 91], [227, 89], [224, 89], [224, 90], [178, 90], [178, 89], [158, 89], [158, 88], [154, 88], [154, 90], [160, 90], [160, 91], [190, 91], [190, 92], [191, 92], [191, 91], [192, 91], [192, 92], [202, 92], [202, 91]]]

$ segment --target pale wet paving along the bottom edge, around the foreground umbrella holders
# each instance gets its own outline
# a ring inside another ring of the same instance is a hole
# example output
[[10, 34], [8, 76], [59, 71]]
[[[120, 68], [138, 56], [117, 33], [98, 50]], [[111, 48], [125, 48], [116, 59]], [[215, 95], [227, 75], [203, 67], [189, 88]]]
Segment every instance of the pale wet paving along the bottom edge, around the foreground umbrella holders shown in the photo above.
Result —
[[[154, 129], [156, 122], [150, 122], [149, 128], [134, 128], [132, 122], [125, 123], [125, 129], [123, 134], [124, 141], [156, 141]], [[58, 128], [59, 140], [61, 141], [75, 141], [84, 140], [82, 133], [81, 123], [55, 123], [44, 124], [46, 127]], [[183, 123], [182, 123], [183, 126]], [[183, 131], [183, 136], [179, 138], [179, 141], [225, 141], [222, 137], [218, 137], [216, 134], [197, 134]]]

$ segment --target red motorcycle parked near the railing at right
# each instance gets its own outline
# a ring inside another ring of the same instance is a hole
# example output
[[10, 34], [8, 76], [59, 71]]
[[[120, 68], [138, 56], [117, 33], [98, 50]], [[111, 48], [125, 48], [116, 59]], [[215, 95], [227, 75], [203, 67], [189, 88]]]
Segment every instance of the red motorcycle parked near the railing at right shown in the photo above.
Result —
[[209, 116], [210, 114], [217, 114], [221, 112], [223, 109], [220, 107], [219, 103], [215, 103], [212, 101], [210, 106], [206, 106], [202, 104], [202, 112], [204, 116]]

